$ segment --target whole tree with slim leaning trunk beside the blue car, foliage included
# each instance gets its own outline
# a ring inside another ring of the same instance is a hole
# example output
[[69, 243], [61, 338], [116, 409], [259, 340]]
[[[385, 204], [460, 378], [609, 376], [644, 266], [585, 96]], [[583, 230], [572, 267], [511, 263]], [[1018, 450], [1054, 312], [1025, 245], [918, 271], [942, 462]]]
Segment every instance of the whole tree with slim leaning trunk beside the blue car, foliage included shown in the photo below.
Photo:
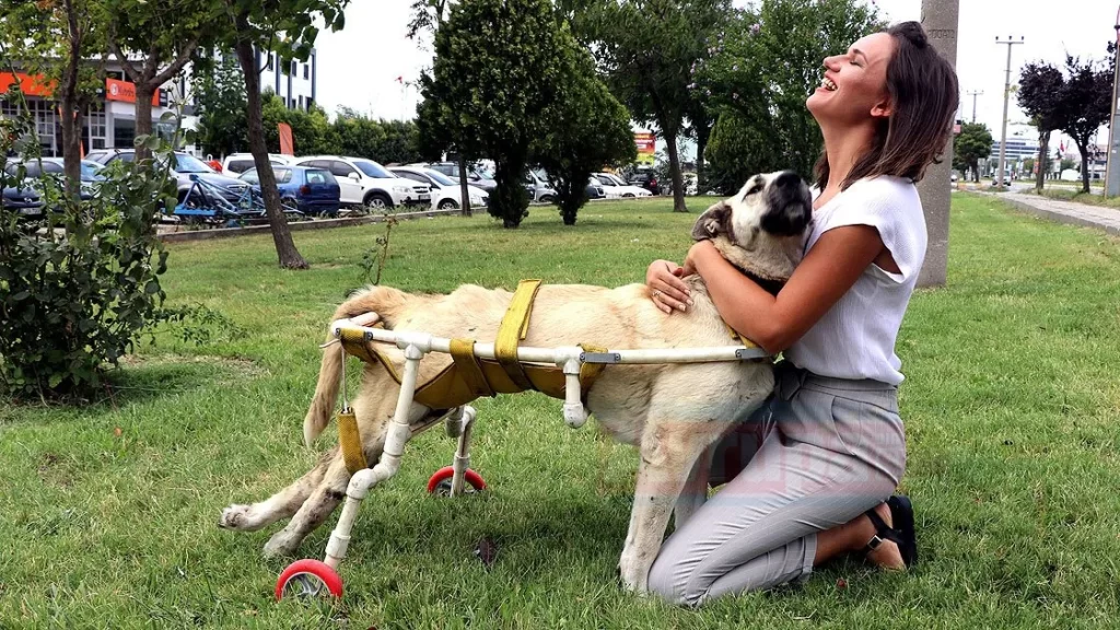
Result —
[[258, 50], [276, 50], [280, 63], [307, 61], [319, 33], [317, 24], [338, 30], [345, 24], [343, 9], [349, 0], [215, 0], [226, 10], [228, 22], [224, 43], [237, 55], [245, 77], [249, 148], [261, 182], [264, 207], [276, 243], [280, 267], [306, 269], [307, 262], [296, 249], [288, 221], [280, 211], [280, 193], [269, 161], [261, 114], [260, 66]]

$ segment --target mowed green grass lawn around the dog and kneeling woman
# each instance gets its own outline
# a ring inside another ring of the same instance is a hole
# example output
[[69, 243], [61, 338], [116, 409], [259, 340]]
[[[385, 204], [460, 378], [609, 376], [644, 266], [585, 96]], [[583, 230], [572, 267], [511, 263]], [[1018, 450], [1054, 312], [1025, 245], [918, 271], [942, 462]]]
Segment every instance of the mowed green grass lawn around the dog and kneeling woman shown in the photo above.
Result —
[[[579, 225], [534, 209], [393, 230], [384, 281], [414, 291], [521, 278], [618, 285], [680, 259], [689, 215], [595, 204]], [[165, 286], [245, 328], [196, 348], [165, 333], [84, 408], [0, 407], [0, 628], [1100, 628], [1120, 610], [1120, 241], [954, 195], [948, 288], [915, 295], [904, 491], [922, 564], [858, 559], [803, 586], [701, 610], [620, 591], [636, 455], [568, 428], [539, 395], [477, 404], [484, 495], [436, 499], [454, 443], [436, 427], [363, 506], [337, 605], [272, 600], [288, 559], [216, 527], [307, 471], [301, 421], [318, 343], [381, 226], [300, 232], [311, 270], [267, 237], [175, 244]], [[353, 360], [352, 360], [353, 361]], [[354, 363], [351, 363], [354, 365]], [[327, 525], [300, 548], [321, 557]], [[487, 568], [474, 555], [496, 545]]]

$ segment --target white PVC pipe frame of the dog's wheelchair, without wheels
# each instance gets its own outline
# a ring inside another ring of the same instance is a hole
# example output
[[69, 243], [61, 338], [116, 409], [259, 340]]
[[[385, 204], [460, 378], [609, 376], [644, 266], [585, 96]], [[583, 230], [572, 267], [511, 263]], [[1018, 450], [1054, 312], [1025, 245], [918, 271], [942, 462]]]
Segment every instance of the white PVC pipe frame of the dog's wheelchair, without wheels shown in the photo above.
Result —
[[[372, 469], [364, 469], [356, 472], [346, 487], [346, 503], [343, 506], [343, 513], [338, 518], [338, 524], [330, 532], [330, 540], [327, 541], [326, 564], [332, 568], [338, 568], [339, 563], [346, 557], [346, 549], [349, 546], [351, 531], [354, 528], [354, 520], [357, 518], [358, 507], [362, 500], [374, 485], [385, 481], [396, 474], [401, 465], [401, 454], [404, 452], [404, 444], [412, 436], [412, 428], [409, 426], [409, 409], [412, 407], [412, 397], [417, 388], [417, 374], [420, 370], [420, 360], [429, 352], [451, 352], [451, 340], [436, 337], [426, 333], [394, 332], [382, 328], [370, 327], [380, 317], [376, 313], [366, 313], [349, 319], [337, 319], [332, 323], [330, 328], [336, 337], [340, 336], [343, 328], [358, 328], [365, 334], [365, 339], [382, 343], [392, 343], [404, 351], [404, 374], [401, 378], [401, 392], [396, 398], [396, 408], [393, 411], [393, 420], [389, 425], [385, 436], [385, 446], [382, 451], [381, 460]], [[476, 343], [475, 355], [482, 359], [496, 359], [493, 343]], [[762, 359], [766, 356], [760, 349], [748, 349], [743, 345], [727, 345], [718, 348], [674, 348], [674, 349], [650, 349], [650, 350], [612, 350], [603, 353], [607, 360], [596, 360], [596, 363], [706, 363], [713, 361], [743, 361], [746, 359]], [[579, 369], [588, 361], [587, 353], [579, 346], [561, 348], [517, 348], [517, 360], [525, 363], [552, 363], [559, 365], [564, 373], [564, 420], [572, 427], [580, 427], [587, 421], [587, 409], [584, 408], [579, 387]], [[461, 416], [459, 415], [461, 414]], [[451, 495], [456, 497], [463, 492], [464, 472], [470, 462], [468, 443], [470, 429], [475, 420], [475, 409], [464, 406], [457, 411], [449, 423], [459, 424], [458, 446], [455, 453], [454, 475], [451, 478]], [[450, 425], [448, 427], [450, 429]]]

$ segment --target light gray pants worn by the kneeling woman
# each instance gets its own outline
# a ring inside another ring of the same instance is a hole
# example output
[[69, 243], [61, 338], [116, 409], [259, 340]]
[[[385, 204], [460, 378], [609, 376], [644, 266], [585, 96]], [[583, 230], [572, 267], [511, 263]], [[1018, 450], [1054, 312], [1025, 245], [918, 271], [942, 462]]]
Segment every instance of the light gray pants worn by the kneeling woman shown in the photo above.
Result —
[[906, 439], [895, 387], [819, 377], [788, 362], [775, 380], [767, 402], [717, 446], [712, 484], [734, 479], [665, 540], [651, 592], [699, 604], [805, 578], [816, 532], [898, 485]]

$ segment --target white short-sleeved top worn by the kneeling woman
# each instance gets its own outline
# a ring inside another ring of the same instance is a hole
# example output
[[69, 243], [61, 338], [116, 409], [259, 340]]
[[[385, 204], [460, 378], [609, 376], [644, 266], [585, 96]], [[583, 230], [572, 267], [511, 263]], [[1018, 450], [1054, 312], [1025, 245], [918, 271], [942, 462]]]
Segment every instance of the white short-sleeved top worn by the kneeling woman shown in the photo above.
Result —
[[870, 225], [900, 274], [874, 262], [856, 284], [796, 343], [785, 350], [794, 365], [822, 377], [875, 379], [898, 385], [902, 361], [895, 339], [925, 259], [925, 215], [909, 179], [860, 179], [813, 212], [805, 252], [821, 234], [844, 225]]

